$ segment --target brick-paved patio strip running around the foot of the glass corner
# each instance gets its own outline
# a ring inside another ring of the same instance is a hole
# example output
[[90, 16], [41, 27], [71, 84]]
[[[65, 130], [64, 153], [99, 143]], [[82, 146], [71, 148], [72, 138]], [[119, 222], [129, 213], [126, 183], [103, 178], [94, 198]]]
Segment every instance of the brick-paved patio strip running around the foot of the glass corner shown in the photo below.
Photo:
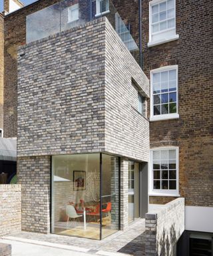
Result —
[[[126, 255], [143, 256], [145, 219], [137, 219], [125, 231], [118, 231], [102, 241], [85, 239], [79, 237], [68, 237], [65, 235], [30, 233], [21, 231], [11, 236], [5, 236], [3, 239], [13, 241], [25, 241], [25, 243], [40, 244], [53, 243], [57, 245], [72, 245], [77, 248], [83, 248], [85, 252], [98, 254], [99, 251], [112, 253], [125, 253]], [[86, 250], [85, 250], [86, 249]]]

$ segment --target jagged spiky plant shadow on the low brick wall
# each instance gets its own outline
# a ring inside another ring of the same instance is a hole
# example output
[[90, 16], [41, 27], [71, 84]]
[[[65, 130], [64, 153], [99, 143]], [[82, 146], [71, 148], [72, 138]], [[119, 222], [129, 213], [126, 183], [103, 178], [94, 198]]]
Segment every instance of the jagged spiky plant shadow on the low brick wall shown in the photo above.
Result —
[[[170, 237], [170, 238], [169, 238]], [[158, 256], [176, 256], [176, 237], [180, 237], [180, 233], [176, 233], [174, 224], [172, 224], [170, 231], [163, 229], [160, 239], [157, 239], [156, 248]]]

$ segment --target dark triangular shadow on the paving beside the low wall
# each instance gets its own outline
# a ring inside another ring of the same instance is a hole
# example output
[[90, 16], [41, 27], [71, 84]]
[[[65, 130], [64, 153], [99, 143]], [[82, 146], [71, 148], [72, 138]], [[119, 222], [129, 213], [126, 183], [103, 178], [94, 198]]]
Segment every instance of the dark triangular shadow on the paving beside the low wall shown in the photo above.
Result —
[[134, 256], [145, 256], [146, 231], [122, 247], [118, 253], [126, 253]]

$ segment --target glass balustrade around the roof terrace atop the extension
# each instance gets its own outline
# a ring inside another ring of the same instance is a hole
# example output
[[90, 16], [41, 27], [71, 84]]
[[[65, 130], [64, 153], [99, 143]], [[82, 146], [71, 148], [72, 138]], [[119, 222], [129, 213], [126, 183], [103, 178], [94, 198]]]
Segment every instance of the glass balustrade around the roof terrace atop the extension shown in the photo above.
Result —
[[138, 46], [110, 0], [65, 0], [27, 15], [26, 41], [31, 43], [102, 16], [107, 17], [136, 61], [139, 61]]

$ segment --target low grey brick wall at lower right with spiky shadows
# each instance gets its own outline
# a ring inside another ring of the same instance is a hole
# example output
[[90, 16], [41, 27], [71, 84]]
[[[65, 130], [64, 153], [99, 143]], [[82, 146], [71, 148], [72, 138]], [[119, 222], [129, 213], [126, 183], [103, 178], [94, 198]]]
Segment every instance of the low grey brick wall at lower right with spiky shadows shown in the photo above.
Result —
[[184, 198], [146, 213], [146, 256], [175, 256], [184, 231]]

